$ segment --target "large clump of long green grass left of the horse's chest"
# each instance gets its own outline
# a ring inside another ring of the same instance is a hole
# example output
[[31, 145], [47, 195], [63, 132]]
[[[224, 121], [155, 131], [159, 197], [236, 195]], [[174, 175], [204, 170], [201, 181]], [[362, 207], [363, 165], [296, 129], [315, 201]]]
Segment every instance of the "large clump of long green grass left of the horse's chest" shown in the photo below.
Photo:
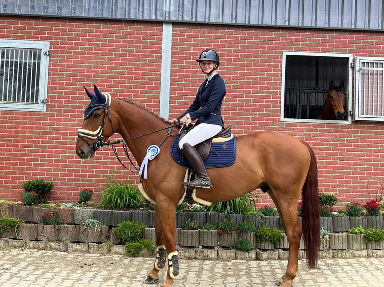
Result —
[[100, 208], [125, 210], [129, 208], [140, 208], [147, 203], [132, 181], [124, 180], [118, 182], [109, 179], [105, 189], [101, 191]]

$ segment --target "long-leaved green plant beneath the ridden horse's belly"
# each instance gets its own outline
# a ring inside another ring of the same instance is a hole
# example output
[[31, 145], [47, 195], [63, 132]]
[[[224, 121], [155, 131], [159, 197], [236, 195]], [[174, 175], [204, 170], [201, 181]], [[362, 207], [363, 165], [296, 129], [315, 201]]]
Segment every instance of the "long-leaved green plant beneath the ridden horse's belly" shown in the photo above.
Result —
[[208, 206], [208, 212], [219, 212], [225, 214], [249, 214], [252, 208], [255, 208], [257, 196], [253, 193], [248, 193], [239, 198], [224, 201], [224, 202], [212, 202], [211, 206]]

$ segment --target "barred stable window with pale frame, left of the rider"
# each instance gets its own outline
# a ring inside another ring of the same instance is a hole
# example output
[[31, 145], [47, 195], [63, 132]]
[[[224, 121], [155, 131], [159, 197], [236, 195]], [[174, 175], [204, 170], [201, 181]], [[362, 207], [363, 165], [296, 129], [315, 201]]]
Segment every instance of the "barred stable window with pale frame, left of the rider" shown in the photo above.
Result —
[[0, 40], [0, 109], [45, 111], [49, 42]]

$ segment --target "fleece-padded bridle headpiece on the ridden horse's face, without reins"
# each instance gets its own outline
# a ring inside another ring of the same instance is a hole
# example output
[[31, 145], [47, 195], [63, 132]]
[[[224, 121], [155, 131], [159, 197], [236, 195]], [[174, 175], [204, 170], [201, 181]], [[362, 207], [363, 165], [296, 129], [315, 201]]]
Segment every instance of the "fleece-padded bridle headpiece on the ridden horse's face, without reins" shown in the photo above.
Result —
[[[115, 131], [113, 129], [113, 125], [112, 125], [111, 116], [108, 113], [108, 105], [106, 105], [106, 104], [88, 105], [88, 108], [98, 108], [98, 107], [103, 108], [105, 110], [103, 123], [99, 126], [99, 128], [96, 129], [95, 131], [90, 131], [87, 129], [80, 128], [77, 131], [77, 136], [80, 137], [81, 139], [83, 139], [88, 144], [88, 146], [90, 148], [92, 148], [95, 152], [104, 146], [104, 141], [103, 141], [104, 125], [105, 125], [105, 121], [106, 121], [107, 117], [108, 117], [109, 123], [111, 124], [111, 127], [112, 127], [112, 134], [115, 133]], [[91, 143], [89, 143], [87, 138], [97, 139], [97, 141], [94, 144], [91, 144]]]

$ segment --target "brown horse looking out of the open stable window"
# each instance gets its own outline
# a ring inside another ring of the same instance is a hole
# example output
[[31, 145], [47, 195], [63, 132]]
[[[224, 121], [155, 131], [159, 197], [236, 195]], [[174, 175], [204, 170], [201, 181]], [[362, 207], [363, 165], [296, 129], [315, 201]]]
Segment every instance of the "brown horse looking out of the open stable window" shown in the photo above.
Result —
[[333, 85], [333, 80], [329, 83], [329, 90], [325, 99], [321, 114], [317, 119], [344, 120], [345, 94], [342, 92], [344, 81], [341, 80], [339, 86]]

